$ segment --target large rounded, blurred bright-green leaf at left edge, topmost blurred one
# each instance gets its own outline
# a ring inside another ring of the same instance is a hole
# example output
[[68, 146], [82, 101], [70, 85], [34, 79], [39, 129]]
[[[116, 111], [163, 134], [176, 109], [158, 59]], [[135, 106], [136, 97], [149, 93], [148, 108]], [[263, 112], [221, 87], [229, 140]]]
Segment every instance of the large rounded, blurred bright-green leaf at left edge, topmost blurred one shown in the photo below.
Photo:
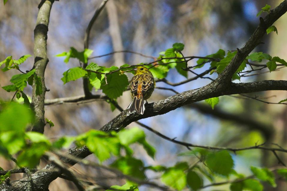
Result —
[[11, 102], [0, 112], [0, 133], [2, 131], [24, 132], [32, 119], [33, 114], [28, 106]]

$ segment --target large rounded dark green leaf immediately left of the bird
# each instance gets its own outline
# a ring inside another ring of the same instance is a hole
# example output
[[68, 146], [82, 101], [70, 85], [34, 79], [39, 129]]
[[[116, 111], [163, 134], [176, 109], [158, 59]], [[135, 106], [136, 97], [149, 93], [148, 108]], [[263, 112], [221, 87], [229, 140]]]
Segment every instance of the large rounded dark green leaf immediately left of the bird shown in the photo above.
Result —
[[104, 94], [113, 100], [123, 95], [128, 85], [129, 80], [125, 74], [114, 72], [106, 75], [106, 79], [102, 79], [100, 88]]

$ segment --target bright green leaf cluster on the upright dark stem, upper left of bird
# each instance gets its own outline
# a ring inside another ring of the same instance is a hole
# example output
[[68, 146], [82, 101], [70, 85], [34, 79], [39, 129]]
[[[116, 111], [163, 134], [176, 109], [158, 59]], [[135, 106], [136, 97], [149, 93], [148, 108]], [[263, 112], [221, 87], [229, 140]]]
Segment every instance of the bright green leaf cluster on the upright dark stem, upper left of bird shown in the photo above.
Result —
[[60, 56], [66, 56], [66, 58], [64, 59], [64, 62], [67, 63], [70, 58], [77, 58], [79, 61], [83, 62], [83, 63], [87, 63], [88, 62], [88, 57], [93, 53], [93, 50], [91, 49], [85, 49], [82, 52], [78, 52], [75, 48], [70, 47], [70, 51], [69, 52], [62, 52], [61, 54], [56, 55], [57, 57]]

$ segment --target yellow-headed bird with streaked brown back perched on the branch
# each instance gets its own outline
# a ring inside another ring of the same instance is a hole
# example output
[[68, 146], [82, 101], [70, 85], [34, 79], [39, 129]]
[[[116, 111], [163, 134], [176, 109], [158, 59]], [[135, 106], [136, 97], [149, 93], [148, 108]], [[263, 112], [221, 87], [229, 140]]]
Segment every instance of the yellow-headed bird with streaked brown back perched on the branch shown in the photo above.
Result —
[[130, 81], [130, 95], [133, 101], [127, 109], [129, 109], [129, 113], [136, 111], [139, 115], [143, 115], [145, 112], [144, 100], [150, 98], [154, 91], [154, 76], [151, 71], [144, 66], [138, 66], [133, 70], [136, 72]]

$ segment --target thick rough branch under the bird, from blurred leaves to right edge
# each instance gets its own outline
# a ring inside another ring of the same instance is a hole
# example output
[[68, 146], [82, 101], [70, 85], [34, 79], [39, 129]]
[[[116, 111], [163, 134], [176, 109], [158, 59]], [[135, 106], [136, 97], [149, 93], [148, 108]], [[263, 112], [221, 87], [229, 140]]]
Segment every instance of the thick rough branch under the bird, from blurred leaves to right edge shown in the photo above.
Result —
[[287, 81], [284, 80], [265, 80], [262, 82], [250, 83], [232, 83], [230, 87], [218, 86], [217, 83], [210, 83], [202, 88], [185, 91], [164, 100], [146, 105], [146, 111], [143, 115], [137, 115], [135, 112], [128, 113], [127, 110], [121, 112], [112, 121], [104, 125], [102, 131], [120, 130], [128, 124], [143, 118], [156, 115], [162, 115], [181, 106], [205, 100], [211, 97], [219, 97], [222, 95], [251, 93], [267, 90], [287, 90]]

